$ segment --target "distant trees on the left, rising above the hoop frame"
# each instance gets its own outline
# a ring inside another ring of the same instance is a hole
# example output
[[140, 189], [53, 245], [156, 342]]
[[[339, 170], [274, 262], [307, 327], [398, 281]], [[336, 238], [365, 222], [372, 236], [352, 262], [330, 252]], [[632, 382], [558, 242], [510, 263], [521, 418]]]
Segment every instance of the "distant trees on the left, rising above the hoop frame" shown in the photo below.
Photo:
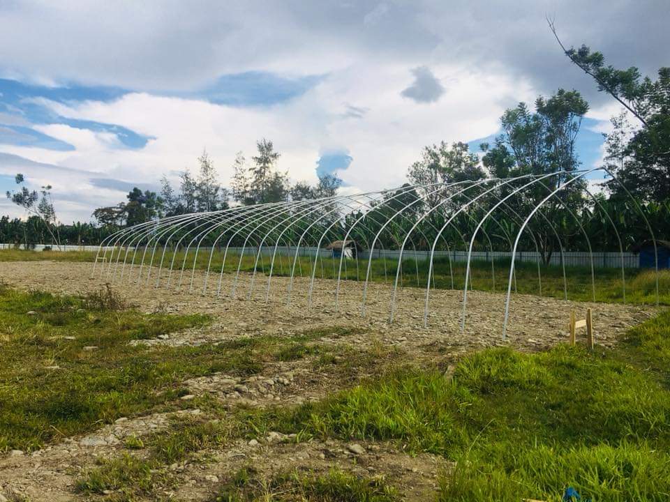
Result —
[[248, 162], [242, 152], [237, 153], [230, 188], [218, 181], [214, 162], [204, 151], [198, 157], [198, 172], [188, 169], [179, 174], [179, 185], [172, 186], [167, 176], [160, 181], [161, 189], [140, 190], [133, 188], [126, 201], [114, 206], [96, 208], [91, 222], [64, 225], [58, 222], [51, 197], [51, 186], [29, 190], [23, 174], [17, 174], [17, 190], [8, 191], [7, 197], [22, 208], [27, 218], [0, 219], [0, 242], [23, 244], [27, 248], [38, 243], [54, 247], [63, 244], [96, 244], [114, 231], [138, 223], [188, 213], [219, 211], [239, 205], [264, 204], [288, 200], [318, 199], [336, 194], [342, 181], [334, 174], [320, 176], [318, 183], [306, 181], [291, 184], [288, 172], [278, 169], [278, 153], [268, 139], [256, 144], [257, 153]]

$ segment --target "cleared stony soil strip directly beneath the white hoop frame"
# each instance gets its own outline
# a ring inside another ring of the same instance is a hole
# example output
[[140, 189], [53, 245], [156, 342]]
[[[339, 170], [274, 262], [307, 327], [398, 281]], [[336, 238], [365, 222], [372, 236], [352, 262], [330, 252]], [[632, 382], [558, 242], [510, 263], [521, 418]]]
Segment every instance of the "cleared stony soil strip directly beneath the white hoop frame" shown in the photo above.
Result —
[[[156, 272], [149, 277], [147, 268], [137, 281], [137, 267], [124, 280], [100, 273], [100, 266], [91, 277], [92, 265], [66, 262], [0, 262], [0, 277], [16, 287], [42, 289], [64, 294], [81, 294], [101, 289], [105, 282], [121, 292], [128, 301], [146, 312], [211, 314], [216, 322], [195, 333], [185, 333], [183, 339], [170, 343], [211, 342], [254, 333], [288, 333], [314, 329], [319, 326], [355, 326], [379, 337], [382, 342], [421, 346], [442, 343], [453, 347], [478, 347], [500, 344], [504, 319], [505, 296], [484, 291], [468, 291], [466, 330], [461, 334], [463, 291], [431, 290], [429, 323], [424, 327], [424, 289], [405, 287], [396, 298], [394, 322], [389, 324], [392, 287], [371, 282], [366, 292], [365, 317], [361, 316], [363, 282], [340, 283], [338, 307], [335, 306], [336, 281], [319, 280], [314, 284], [311, 305], [308, 304], [309, 281], [296, 277], [287, 303], [288, 277], [272, 277], [267, 302], [267, 277], [257, 274], [253, 295], [248, 296], [251, 274], [241, 274], [236, 296], [230, 296], [234, 275], [225, 275], [221, 296], [216, 295], [218, 277], [209, 276], [206, 293], [202, 293], [204, 273], [195, 271], [184, 275], [181, 289], [175, 287], [178, 273], [172, 277], [170, 289], [165, 288], [163, 271], [161, 286], [155, 287]], [[647, 319], [655, 309], [637, 305], [584, 303], [512, 294], [509, 308], [508, 341], [516, 347], [537, 349], [565, 340], [569, 310], [585, 314], [593, 307], [593, 322], [600, 344], [611, 344], [627, 328]], [[403, 340], [404, 339], [404, 340]], [[359, 342], [359, 340], [353, 340]], [[364, 342], [361, 340], [360, 342]], [[539, 347], [538, 347], [539, 346]]]

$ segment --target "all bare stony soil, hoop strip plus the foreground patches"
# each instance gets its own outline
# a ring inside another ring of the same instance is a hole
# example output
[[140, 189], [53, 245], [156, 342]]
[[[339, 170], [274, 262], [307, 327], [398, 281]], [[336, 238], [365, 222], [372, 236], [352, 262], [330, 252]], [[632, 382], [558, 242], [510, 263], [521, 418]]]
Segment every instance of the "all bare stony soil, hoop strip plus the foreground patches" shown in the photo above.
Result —
[[[555, 298], [513, 295], [507, 340], [502, 341], [502, 318], [505, 297], [481, 291], [468, 293], [468, 323], [460, 330], [462, 291], [431, 291], [429, 326], [423, 326], [425, 292], [405, 287], [396, 300], [396, 317], [388, 323], [392, 289], [383, 283], [368, 286], [366, 317], [361, 316], [362, 282], [342, 282], [338, 310], [334, 305], [336, 283], [317, 280], [312, 305], [308, 305], [308, 281], [298, 277], [293, 284], [292, 301], [286, 303], [289, 280], [273, 277], [269, 301], [265, 302], [267, 277], [255, 277], [254, 292], [248, 297], [251, 275], [241, 275], [237, 298], [229, 293], [233, 277], [224, 276], [220, 297], [216, 296], [218, 277], [209, 278], [202, 294], [204, 275], [196, 271], [193, 290], [188, 291], [186, 276], [181, 291], [154, 287], [154, 277], [137, 283], [137, 271], [121, 282], [105, 274], [91, 278], [92, 265], [82, 263], [32, 261], [0, 262], [0, 277], [14, 287], [40, 289], [63, 294], [82, 294], [101, 289], [105, 282], [123, 294], [144, 312], [200, 312], [210, 314], [212, 324], [185, 330], [165, 340], [150, 344], [216, 343], [254, 335], [292, 335], [318, 328], [351, 327], [348, 335], [325, 335], [320, 343], [355, 347], [359, 351], [378, 351], [378, 366], [402, 358], [405, 363], [426, 364], [454, 360], [479, 347], [509, 344], [521, 350], [535, 351], [550, 347], [567, 337], [569, 310], [586, 312], [593, 307], [597, 343], [611, 345], [618, 335], [639, 324], [655, 312], [651, 307], [613, 304], [588, 304], [560, 301]], [[146, 279], [147, 271], [143, 271]], [[163, 284], [165, 275], [163, 275]], [[173, 277], [174, 286], [174, 277]], [[325, 330], [325, 333], [329, 333]], [[262, 374], [247, 379], [216, 374], [184, 382], [193, 395], [211, 395], [231, 409], [240, 404], [291, 406], [305, 400], [317, 400], [328, 393], [351, 386], [368, 374], [346, 374], [315, 370], [307, 359], [286, 363], [268, 363]], [[378, 368], [373, 370], [376, 371]], [[181, 413], [195, 413], [191, 410]], [[98, 432], [74, 437], [48, 446], [30, 455], [7, 455], [0, 458], [0, 500], [70, 501], [83, 500], [73, 492], [75, 479], [82, 469], [94, 464], [97, 457], [114, 457], [124, 449], [130, 434], [142, 436], [165, 427], [168, 416], [120, 419], [103, 425]], [[259, 437], [258, 441], [237, 440], [218, 451], [203, 452], [208, 462], [186, 462], [170, 466], [175, 488], [165, 492], [165, 499], [207, 501], [219, 482], [230, 477], [241, 466], [253, 464], [261, 476], [286, 469], [325, 471], [332, 465], [365, 474], [384, 475], [408, 500], [427, 500], [435, 493], [436, 476], [448, 467], [444, 459], [432, 455], [410, 456], [389, 444], [361, 443], [364, 452], [350, 451], [339, 441], [295, 443], [278, 436]]]

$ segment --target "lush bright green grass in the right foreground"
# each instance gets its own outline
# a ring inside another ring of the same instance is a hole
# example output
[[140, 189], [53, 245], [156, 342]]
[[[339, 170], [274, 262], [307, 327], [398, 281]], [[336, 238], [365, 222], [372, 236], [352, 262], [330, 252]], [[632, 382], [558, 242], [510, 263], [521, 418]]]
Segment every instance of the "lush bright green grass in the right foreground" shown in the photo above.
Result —
[[670, 311], [615, 350], [488, 349], [452, 375], [399, 370], [297, 409], [244, 411], [241, 431], [392, 441], [456, 462], [440, 501], [670, 496]]

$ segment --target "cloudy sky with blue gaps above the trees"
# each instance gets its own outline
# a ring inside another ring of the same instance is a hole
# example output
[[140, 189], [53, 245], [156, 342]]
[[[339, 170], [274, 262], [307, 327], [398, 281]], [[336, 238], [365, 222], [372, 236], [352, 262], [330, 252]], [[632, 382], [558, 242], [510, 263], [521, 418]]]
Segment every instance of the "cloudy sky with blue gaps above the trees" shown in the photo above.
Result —
[[[388, 188], [422, 146], [474, 146], [505, 108], [560, 87], [591, 104], [591, 167], [617, 108], [547, 15], [615, 66], [670, 64], [667, 0], [0, 0], [0, 189], [22, 172], [53, 185], [61, 220], [89, 220], [133, 186], [176, 183], [203, 149], [227, 184], [262, 137], [294, 181]], [[0, 213], [20, 215], [5, 197]]]

